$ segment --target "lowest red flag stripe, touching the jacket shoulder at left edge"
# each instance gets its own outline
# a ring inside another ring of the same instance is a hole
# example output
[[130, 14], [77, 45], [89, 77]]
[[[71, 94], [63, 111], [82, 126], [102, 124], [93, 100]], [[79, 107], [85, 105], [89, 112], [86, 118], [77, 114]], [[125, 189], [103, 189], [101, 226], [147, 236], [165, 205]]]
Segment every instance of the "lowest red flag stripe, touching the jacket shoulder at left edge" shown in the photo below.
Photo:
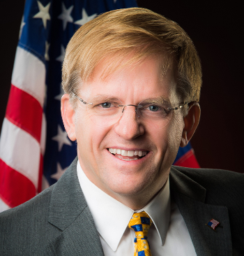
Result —
[[36, 196], [36, 188], [24, 175], [0, 159], [0, 197], [11, 208]]

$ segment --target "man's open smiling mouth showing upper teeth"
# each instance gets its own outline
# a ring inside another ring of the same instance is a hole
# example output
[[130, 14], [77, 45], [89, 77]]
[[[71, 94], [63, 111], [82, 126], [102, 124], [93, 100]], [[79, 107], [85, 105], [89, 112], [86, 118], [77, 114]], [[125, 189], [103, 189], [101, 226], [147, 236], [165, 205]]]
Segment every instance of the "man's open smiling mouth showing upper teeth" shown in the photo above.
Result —
[[120, 148], [107, 148], [107, 150], [115, 157], [125, 161], [139, 160], [148, 153], [142, 150], [122, 150]]

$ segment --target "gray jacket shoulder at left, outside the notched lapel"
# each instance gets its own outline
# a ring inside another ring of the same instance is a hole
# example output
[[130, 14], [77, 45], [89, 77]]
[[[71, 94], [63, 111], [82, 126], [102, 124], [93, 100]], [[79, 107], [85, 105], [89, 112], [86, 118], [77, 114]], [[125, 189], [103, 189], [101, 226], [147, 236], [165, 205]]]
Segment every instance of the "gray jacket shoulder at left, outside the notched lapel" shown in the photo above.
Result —
[[0, 214], [0, 255], [43, 255], [45, 241], [60, 232], [47, 222], [52, 189]]

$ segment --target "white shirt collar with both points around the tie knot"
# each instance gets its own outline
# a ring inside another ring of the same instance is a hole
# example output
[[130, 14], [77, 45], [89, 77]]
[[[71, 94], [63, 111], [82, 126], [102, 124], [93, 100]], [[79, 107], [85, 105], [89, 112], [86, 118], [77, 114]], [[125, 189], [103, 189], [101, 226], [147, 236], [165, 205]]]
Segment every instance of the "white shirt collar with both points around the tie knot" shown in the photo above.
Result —
[[[86, 177], [79, 161], [77, 162], [77, 175], [86, 203], [93, 216], [96, 229], [110, 248], [116, 251], [135, 211], [113, 197], [110, 197], [94, 185]], [[170, 217], [169, 179], [156, 197], [137, 212], [141, 211], [146, 211], [151, 217], [162, 241], [162, 245], [164, 245]], [[116, 229], [116, 232], [114, 232], [114, 229]]]

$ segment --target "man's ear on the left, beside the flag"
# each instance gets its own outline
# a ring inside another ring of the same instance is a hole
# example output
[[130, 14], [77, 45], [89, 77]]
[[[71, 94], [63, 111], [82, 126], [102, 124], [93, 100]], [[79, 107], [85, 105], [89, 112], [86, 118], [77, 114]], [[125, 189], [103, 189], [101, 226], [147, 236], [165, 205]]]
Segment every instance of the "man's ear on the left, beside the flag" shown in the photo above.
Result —
[[61, 99], [61, 115], [64, 128], [66, 129], [70, 141], [75, 141], [75, 111], [70, 104], [69, 94], [63, 94]]

